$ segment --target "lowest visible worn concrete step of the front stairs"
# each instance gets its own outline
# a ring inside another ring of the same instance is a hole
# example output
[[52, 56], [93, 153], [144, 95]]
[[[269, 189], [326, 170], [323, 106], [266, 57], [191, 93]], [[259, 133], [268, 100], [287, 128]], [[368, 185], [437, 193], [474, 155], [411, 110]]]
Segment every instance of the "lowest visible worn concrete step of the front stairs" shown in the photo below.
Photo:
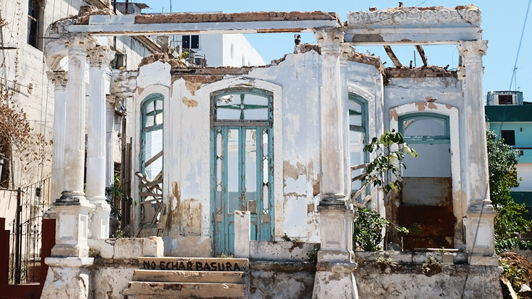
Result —
[[133, 281], [128, 298], [245, 298], [245, 285], [238, 283], [153, 283]]

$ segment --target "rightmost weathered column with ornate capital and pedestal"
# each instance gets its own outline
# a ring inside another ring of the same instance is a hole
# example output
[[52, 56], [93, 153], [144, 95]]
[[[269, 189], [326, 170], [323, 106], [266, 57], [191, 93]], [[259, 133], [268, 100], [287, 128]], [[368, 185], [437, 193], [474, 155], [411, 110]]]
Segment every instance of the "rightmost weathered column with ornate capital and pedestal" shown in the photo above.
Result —
[[465, 185], [467, 211], [467, 252], [469, 263], [497, 265], [494, 258], [495, 211], [489, 199], [488, 153], [484, 125], [484, 92], [482, 90], [482, 56], [486, 55], [487, 41], [461, 41], [458, 46], [465, 67], [464, 139]]

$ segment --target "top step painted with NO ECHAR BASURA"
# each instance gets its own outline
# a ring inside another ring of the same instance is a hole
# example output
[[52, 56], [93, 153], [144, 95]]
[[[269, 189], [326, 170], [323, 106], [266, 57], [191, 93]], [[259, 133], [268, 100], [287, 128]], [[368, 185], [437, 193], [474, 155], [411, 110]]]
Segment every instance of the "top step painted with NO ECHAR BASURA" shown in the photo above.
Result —
[[138, 258], [141, 270], [248, 272], [247, 258]]

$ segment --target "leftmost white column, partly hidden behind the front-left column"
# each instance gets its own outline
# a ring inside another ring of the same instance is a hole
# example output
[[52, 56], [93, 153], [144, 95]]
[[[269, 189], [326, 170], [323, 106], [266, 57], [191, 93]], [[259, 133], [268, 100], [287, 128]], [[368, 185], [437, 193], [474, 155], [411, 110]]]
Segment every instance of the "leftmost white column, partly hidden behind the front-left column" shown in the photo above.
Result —
[[66, 117], [66, 71], [46, 72], [48, 80], [55, 85], [53, 104], [53, 147], [52, 147], [52, 178], [51, 203], [61, 197], [63, 192], [63, 167], [65, 166], [65, 117]]

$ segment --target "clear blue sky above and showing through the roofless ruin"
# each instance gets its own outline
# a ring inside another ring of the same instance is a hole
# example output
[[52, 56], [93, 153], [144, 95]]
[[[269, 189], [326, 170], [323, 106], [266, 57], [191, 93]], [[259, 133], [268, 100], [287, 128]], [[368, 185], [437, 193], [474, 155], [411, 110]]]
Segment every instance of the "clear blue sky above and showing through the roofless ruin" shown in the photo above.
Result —
[[[135, 1], [135, 0], [134, 0]], [[136, 0], [144, 2], [152, 9], [147, 9], [147, 13], [169, 12], [171, 0]], [[447, 6], [470, 4], [469, 0], [403, 0], [405, 6]], [[397, 6], [398, 1], [254, 1], [254, 0], [204, 0], [204, 1], [172, 1], [172, 11], [224, 11], [226, 13], [242, 11], [334, 11], [338, 13], [340, 19], [347, 19], [348, 11], [367, 11], [370, 7], [377, 6], [377, 9], [387, 9]], [[419, 5], [421, 4], [421, 5]], [[511, 81], [513, 65], [516, 61], [519, 39], [525, 20], [527, 0], [513, 0], [504, 2], [495, 0], [477, 1], [476, 6], [482, 11], [482, 29], [484, 40], [488, 42], [488, 52], [484, 56], [484, 96], [489, 90], [511, 90], [523, 91], [525, 100], [532, 102], [532, 80], [528, 75], [528, 68], [532, 68], [532, 16], [529, 16], [521, 45], [516, 71], [516, 88]], [[532, 9], [531, 9], [532, 11]], [[532, 14], [532, 12], [529, 12]], [[256, 48], [257, 51], [268, 63], [272, 59], [278, 59], [285, 53], [293, 51], [293, 33], [262, 33], [247, 34], [246, 38]], [[312, 33], [302, 35], [303, 43], [315, 43]], [[402, 64], [408, 65], [414, 60], [414, 46], [393, 46], [393, 51]], [[380, 56], [382, 61], [388, 61], [387, 65], [392, 65], [390, 58], [386, 55], [382, 46], [357, 47], [358, 52], [365, 53], [369, 50]], [[458, 51], [456, 46], [424, 46], [429, 65], [445, 66], [456, 68], [458, 63]], [[417, 54], [415, 54], [417, 55]], [[419, 55], [416, 56], [417, 65], [422, 65]]]

